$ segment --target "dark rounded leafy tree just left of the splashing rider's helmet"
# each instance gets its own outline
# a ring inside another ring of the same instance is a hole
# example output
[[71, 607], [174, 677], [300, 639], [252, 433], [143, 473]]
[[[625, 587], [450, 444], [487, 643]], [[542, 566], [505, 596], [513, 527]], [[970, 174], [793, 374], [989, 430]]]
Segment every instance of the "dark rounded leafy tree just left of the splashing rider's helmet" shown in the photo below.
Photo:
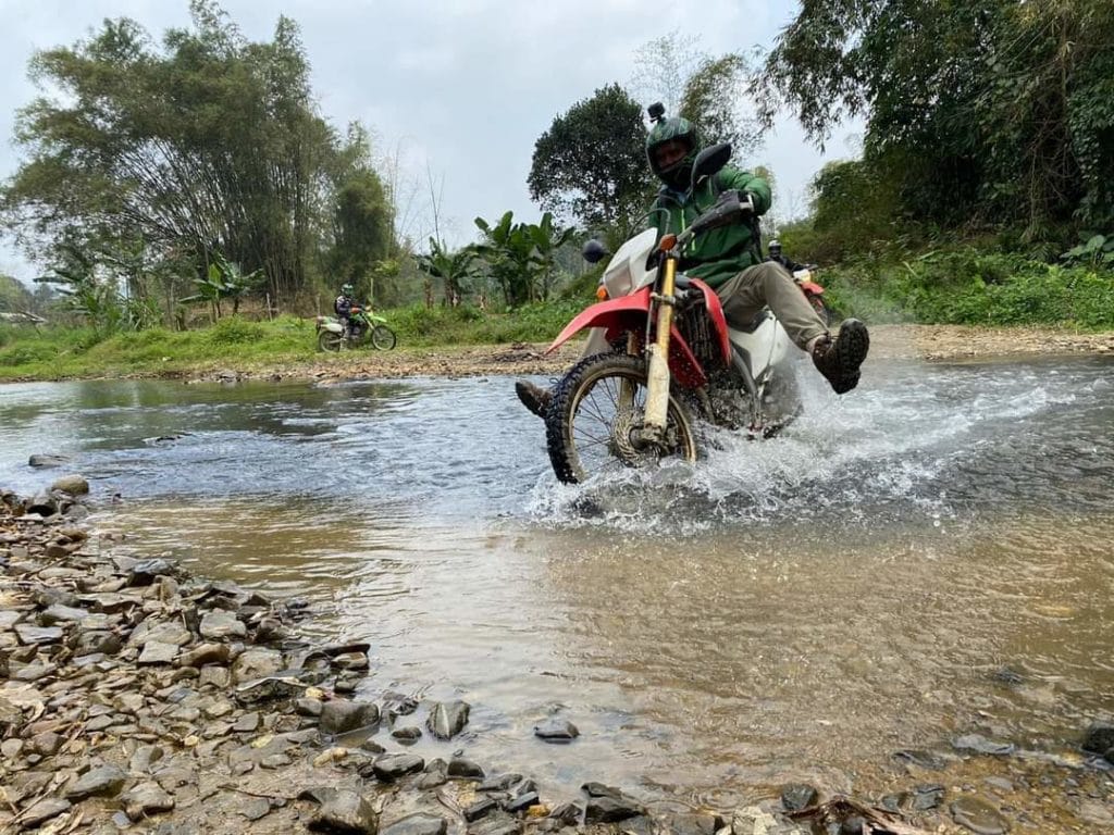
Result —
[[566, 220], [625, 236], [651, 191], [642, 108], [618, 85], [554, 119], [534, 146], [530, 197]]

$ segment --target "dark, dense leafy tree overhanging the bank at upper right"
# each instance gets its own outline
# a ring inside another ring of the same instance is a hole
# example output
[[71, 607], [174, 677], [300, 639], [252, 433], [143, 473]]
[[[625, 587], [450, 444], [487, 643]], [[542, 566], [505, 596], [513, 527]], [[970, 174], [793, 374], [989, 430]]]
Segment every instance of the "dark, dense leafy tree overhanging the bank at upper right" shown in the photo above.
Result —
[[758, 90], [821, 141], [864, 116], [916, 217], [1114, 224], [1110, 0], [810, 0]]

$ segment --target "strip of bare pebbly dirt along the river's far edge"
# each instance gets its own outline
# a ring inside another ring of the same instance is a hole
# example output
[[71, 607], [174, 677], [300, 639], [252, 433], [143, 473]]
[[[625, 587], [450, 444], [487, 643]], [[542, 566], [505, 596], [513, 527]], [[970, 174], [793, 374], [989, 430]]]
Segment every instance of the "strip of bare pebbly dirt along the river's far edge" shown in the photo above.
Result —
[[[868, 363], [879, 360], [927, 362], [997, 360], [1059, 354], [1114, 355], [1114, 333], [1063, 330], [989, 328], [964, 325], [876, 325], [870, 330]], [[583, 343], [546, 354], [545, 343], [468, 345], [443, 348], [358, 351], [322, 355], [312, 363], [217, 370], [202, 376], [349, 380], [403, 376], [482, 376], [488, 374], [556, 376], [571, 365]]]

